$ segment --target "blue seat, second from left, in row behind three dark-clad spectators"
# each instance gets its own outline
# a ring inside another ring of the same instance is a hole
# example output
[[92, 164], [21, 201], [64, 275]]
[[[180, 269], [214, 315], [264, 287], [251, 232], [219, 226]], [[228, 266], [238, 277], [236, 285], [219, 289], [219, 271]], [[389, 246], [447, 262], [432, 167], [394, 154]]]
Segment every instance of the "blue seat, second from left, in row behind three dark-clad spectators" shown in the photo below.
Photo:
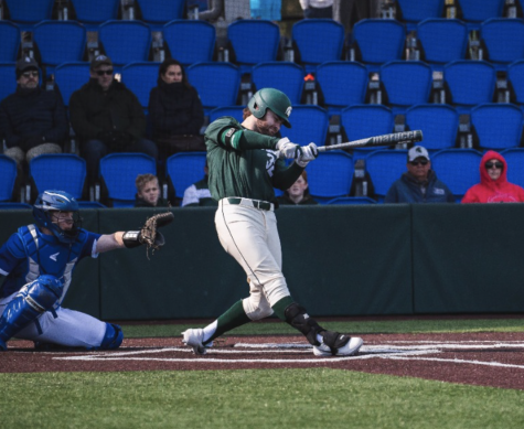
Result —
[[[74, 21], [43, 21], [34, 26], [42, 63], [56, 66], [62, 63], [79, 62], [84, 57], [87, 32], [84, 25]], [[47, 67], [47, 74], [52, 71]]]

